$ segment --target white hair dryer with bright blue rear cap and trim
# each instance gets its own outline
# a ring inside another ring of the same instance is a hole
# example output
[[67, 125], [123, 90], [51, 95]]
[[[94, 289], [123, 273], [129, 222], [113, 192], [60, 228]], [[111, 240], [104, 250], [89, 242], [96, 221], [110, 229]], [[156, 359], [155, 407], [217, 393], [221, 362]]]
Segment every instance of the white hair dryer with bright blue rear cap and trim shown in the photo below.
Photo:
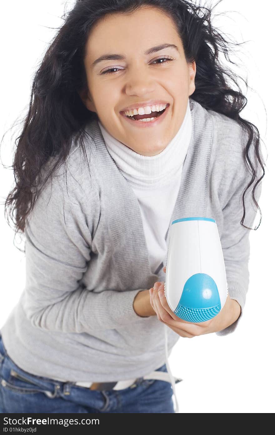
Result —
[[164, 292], [171, 310], [185, 321], [204, 322], [221, 311], [228, 286], [214, 219], [172, 222]]

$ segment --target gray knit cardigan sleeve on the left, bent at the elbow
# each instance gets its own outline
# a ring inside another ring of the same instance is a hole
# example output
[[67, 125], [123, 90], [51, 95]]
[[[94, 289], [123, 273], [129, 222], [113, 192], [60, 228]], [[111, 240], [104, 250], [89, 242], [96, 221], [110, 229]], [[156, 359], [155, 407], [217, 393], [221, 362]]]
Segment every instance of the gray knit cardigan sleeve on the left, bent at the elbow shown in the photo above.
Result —
[[[83, 189], [87, 182], [90, 188]], [[95, 255], [90, 247], [100, 205], [93, 183], [93, 177], [86, 172], [82, 177], [78, 168], [66, 177], [54, 175], [27, 218], [23, 307], [34, 327], [93, 334], [144, 321], [133, 309], [133, 300], [142, 289], [96, 293], [80, 285]]]

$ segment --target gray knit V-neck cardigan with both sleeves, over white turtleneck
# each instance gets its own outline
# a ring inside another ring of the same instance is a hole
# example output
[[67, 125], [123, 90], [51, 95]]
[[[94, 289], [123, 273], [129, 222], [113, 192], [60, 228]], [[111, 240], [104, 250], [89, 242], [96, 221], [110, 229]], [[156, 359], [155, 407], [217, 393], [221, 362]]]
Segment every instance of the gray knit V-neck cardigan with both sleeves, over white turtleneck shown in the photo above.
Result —
[[[190, 107], [192, 138], [170, 225], [193, 216], [215, 219], [229, 295], [243, 312], [250, 230], [240, 221], [242, 192], [251, 178], [242, 155], [244, 139], [236, 121], [192, 99]], [[124, 380], [165, 362], [163, 324], [156, 316], [139, 317], [133, 309], [136, 294], [165, 281], [165, 273], [150, 268], [137, 198], [109, 154], [97, 121], [90, 121], [86, 131], [89, 165], [74, 143], [67, 174], [64, 167], [56, 171], [28, 218], [26, 283], [1, 334], [10, 358], [34, 375], [61, 381]], [[244, 224], [250, 228], [257, 211], [252, 187], [245, 195]], [[257, 201], [260, 193], [261, 184]], [[167, 248], [168, 241], [169, 233]], [[233, 332], [240, 318], [216, 334]], [[169, 328], [169, 355], [178, 339]]]

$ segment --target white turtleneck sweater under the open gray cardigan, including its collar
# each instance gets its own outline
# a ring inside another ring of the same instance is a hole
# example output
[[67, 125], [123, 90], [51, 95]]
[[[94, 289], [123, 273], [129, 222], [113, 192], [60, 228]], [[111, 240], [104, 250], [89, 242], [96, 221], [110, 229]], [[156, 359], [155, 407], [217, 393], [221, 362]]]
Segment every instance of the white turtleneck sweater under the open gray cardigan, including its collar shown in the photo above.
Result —
[[152, 273], [157, 274], [165, 258], [170, 219], [179, 193], [182, 167], [192, 133], [189, 100], [179, 131], [155, 156], [136, 153], [109, 134], [98, 122], [106, 147], [129, 182], [139, 202]]

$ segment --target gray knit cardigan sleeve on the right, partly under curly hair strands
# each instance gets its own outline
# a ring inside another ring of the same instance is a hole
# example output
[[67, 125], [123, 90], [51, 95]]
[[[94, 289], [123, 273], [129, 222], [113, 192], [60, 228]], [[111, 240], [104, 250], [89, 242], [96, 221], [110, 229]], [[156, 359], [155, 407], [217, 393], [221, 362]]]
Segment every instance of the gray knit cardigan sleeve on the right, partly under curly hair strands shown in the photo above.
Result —
[[[232, 150], [231, 146], [231, 150]], [[253, 162], [256, 172], [259, 173], [259, 163], [256, 157], [250, 157]], [[245, 218], [243, 224], [246, 227], [252, 228], [249, 230], [241, 225], [243, 216], [242, 194], [248, 184], [251, 182], [252, 173], [248, 171], [245, 165], [244, 157], [241, 152], [228, 152], [226, 155], [226, 164], [231, 176], [230, 183], [227, 181], [221, 184], [220, 197], [224, 198], [227, 192], [229, 199], [221, 200], [222, 216], [223, 216], [223, 231], [220, 237], [222, 252], [225, 262], [226, 279], [228, 283], [228, 293], [231, 299], [235, 299], [241, 306], [241, 313], [239, 318], [229, 327], [217, 331], [216, 335], [228, 335], [235, 331], [240, 319], [243, 315], [245, 306], [246, 294], [249, 285], [249, 270], [248, 262], [250, 257], [250, 242], [249, 234], [254, 231], [253, 228], [257, 227], [255, 217], [257, 214], [257, 207], [252, 198], [252, 190], [255, 186], [254, 181], [245, 193]], [[226, 177], [226, 175], [225, 175]], [[259, 175], [258, 175], [259, 178]], [[262, 181], [260, 181], [255, 189], [255, 199], [258, 203], [262, 191]]]

